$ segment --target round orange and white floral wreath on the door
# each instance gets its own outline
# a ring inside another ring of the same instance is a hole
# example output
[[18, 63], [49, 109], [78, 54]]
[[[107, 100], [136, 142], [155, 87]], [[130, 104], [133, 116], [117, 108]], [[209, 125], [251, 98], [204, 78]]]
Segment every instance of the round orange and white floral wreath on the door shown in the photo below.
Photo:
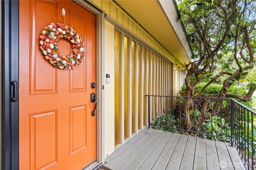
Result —
[[[62, 38], [67, 39], [72, 44], [72, 55], [63, 56], [60, 54], [57, 41]], [[42, 35], [40, 35], [40, 49], [47, 61], [64, 70], [75, 68], [84, 59], [83, 40], [72, 27], [64, 23], [50, 23], [44, 27]]]

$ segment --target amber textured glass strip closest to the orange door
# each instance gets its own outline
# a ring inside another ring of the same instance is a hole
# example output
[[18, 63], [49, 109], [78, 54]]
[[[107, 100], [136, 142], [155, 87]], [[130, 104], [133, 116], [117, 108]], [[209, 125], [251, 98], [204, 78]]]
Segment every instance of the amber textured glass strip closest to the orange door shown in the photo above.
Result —
[[120, 144], [121, 33], [115, 31], [115, 146]]

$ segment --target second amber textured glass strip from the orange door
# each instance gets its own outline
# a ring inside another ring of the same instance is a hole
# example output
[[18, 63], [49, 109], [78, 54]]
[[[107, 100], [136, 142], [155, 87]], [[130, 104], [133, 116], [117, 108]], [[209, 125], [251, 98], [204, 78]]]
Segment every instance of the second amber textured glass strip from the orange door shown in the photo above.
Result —
[[124, 36], [124, 139], [129, 137], [129, 39]]

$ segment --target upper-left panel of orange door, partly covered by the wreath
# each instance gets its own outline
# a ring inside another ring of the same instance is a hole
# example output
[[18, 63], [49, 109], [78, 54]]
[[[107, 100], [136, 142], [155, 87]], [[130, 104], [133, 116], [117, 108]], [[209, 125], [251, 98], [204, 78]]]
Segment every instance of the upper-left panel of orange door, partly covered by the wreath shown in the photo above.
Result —
[[[47, 12], [45, 11], [46, 9]], [[42, 53], [38, 49], [38, 36], [49, 23], [56, 22], [57, 18], [57, 2], [54, 1], [31, 1], [31, 34], [30, 34], [30, 93], [31, 94], [49, 94], [57, 92], [57, 68], [50, 67], [48, 61], [42, 61]], [[42, 17], [43, 16], [43, 17]], [[23, 18], [22, 18], [23, 19]], [[23, 20], [22, 20], [23, 22]], [[46, 25], [45, 25], [46, 24]], [[20, 28], [25, 29], [22, 34], [29, 33], [29, 27], [20, 23]], [[42, 29], [40, 31], [40, 29]], [[22, 35], [21, 35], [22, 36]], [[28, 37], [27, 37], [28, 38]], [[21, 40], [22, 42], [24, 40]], [[21, 43], [22, 43], [21, 42]], [[58, 45], [58, 47], [61, 45]], [[66, 52], [66, 51], [65, 51]], [[44, 70], [44, 71], [42, 71]]]

